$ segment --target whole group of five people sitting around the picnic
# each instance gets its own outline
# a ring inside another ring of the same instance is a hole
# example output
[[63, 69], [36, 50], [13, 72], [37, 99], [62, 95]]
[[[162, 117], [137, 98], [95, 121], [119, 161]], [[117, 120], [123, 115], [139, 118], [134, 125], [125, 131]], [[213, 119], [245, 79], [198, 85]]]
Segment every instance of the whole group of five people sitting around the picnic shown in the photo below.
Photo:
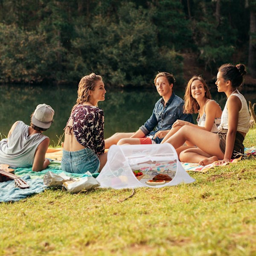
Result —
[[[72, 173], [100, 172], [107, 161], [106, 148], [111, 145], [171, 143], [180, 161], [202, 166], [215, 161], [230, 162], [244, 154], [244, 137], [249, 130], [249, 110], [239, 87], [246, 75], [243, 64], [223, 64], [218, 69], [218, 92], [224, 92], [224, 110], [211, 94], [201, 76], [193, 76], [184, 100], [175, 95], [172, 74], [158, 73], [154, 79], [161, 98], [150, 118], [136, 132], [116, 133], [104, 140], [104, 112], [98, 107], [105, 100], [102, 77], [94, 73], [79, 82], [76, 105], [64, 128], [65, 138], [61, 168]], [[192, 113], [198, 113], [197, 125]], [[45, 154], [49, 138], [42, 133], [53, 120], [54, 111], [46, 104], [38, 105], [31, 124], [17, 121], [8, 137], [0, 141], [0, 163], [12, 167], [29, 167], [37, 172], [46, 169]]]

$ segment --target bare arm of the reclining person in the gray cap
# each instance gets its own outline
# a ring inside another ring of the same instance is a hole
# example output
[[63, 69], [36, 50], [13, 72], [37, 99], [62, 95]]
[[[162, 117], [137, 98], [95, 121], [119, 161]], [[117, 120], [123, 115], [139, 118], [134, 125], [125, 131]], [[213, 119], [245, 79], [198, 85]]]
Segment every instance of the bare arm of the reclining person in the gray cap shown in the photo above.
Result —
[[38, 148], [35, 151], [35, 159], [32, 166], [33, 172], [40, 172], [46, 169], [49, 165], [50, 161], [48, 159], [45, 159], [45, 154], [49, 146], [49, 142], [49, 138], [46, 138], [38, 145]]

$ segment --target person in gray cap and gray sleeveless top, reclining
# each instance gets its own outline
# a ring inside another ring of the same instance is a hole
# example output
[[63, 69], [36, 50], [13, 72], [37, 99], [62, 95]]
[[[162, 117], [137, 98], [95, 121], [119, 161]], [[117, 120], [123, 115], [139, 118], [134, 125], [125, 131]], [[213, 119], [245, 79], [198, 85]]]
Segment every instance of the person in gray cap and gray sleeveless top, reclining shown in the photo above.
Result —
[[45, 159], [49, 138], [42, 133], [51, 126], [53, 115], [51, 106], [40, 104], [31, 115], [30, 125], [15, 122], [7, 139], [0, 141], [0, 163], [21, 168], [32, 166], [34, 172], [46, 169], [50, 163]]

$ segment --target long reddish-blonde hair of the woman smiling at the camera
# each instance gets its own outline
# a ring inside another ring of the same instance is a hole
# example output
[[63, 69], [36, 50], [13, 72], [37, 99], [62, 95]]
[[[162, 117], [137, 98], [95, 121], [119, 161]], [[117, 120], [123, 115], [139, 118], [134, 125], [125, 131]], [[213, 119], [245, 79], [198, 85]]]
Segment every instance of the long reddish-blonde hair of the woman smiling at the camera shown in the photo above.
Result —
[[209, 88], [206, 84], [206, 81], [201, 77], [201, 76], [193, 76], [187, 86], [186, 86], [186, 91], [185, 91], [185, 95], [184, 95], [184, 101], [185, 101], [185, 104], [184, 104], [184, 113], [185, 114], [193, 114], [193, 113], [198, 113], [198, 110], [199, 110], [199, 105], [198, 105], [198, 102], [192, 97], [192, 94], [191, 94], [191, 84], [193, 83], [193, 81], [195, 80], [199, 80], [201, 81], [201, 83], [204, 85], [204, 90], [206, 91], [205, 92], [205, 97], [207, 99], [212, 99], [212, 96], [211, 96], [211, 93], [209, 91]]

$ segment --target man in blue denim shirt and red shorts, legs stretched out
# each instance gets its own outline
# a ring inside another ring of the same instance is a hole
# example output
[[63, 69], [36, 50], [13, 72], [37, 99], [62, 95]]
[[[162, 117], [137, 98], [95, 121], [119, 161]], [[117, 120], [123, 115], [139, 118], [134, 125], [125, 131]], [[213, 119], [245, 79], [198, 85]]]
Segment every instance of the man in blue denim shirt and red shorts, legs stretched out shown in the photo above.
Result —
[[105, 140], [105, 148], [113, 144], [159, 144], [177, 119], [194, 123], [191, 114], [183, 113], [183, 99], [173, 92], [175, 78], [172, 74], [158, 73], [154, 84], [162, 98], [155, 104], [151, 117], [135, 133], [116, 133]]

